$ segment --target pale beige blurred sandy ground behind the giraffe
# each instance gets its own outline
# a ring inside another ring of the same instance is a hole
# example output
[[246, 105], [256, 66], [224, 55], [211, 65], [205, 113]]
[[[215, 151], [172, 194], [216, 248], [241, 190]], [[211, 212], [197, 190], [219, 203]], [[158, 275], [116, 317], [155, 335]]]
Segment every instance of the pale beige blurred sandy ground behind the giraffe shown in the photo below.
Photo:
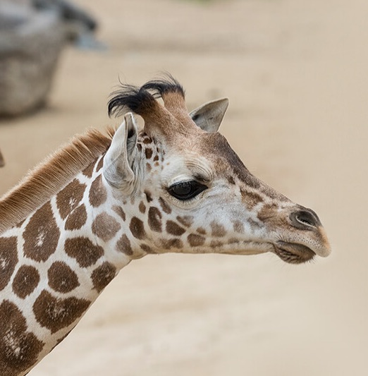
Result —
[[109, 49], [67, 49], [47, 109], [1, 121], [1, 193], [74, 133], [116, 123], [118, 77], [166, 70], [190, 109], [230, 98], [222, 133], [254, 174], [318, 212], [333, 255], [145, 257], [30, 375], [365, 375], [367, 1], [75, 2]]

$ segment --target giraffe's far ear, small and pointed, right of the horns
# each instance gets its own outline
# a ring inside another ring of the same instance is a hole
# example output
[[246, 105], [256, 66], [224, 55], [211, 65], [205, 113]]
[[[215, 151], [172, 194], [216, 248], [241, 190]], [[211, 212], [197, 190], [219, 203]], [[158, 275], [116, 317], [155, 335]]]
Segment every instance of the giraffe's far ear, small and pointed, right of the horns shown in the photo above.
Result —
[[203, 131], [212, 133], [218, 131], [226, 109], [228, 109], [228, 98], [216, 99], [202, 104], [190, 112], [189, 116]]

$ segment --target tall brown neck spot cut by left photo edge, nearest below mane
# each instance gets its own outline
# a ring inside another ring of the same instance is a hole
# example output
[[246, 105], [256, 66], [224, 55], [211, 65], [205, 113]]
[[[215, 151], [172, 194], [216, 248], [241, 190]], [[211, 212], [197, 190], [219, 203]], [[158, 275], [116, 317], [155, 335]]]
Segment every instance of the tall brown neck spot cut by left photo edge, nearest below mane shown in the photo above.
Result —
[[17, 263], [17, 238], [0, 238], [0, 290], [9, 283]]

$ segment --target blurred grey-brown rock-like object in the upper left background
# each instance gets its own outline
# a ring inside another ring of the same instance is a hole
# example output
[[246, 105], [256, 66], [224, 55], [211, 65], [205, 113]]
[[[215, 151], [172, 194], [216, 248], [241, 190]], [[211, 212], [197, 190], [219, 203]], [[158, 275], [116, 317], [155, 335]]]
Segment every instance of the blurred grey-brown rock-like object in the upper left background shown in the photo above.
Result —
[[0, 116], [45, 103], [67, 40], [101, 48], [96, 21], [64, 0], [0, 0]]

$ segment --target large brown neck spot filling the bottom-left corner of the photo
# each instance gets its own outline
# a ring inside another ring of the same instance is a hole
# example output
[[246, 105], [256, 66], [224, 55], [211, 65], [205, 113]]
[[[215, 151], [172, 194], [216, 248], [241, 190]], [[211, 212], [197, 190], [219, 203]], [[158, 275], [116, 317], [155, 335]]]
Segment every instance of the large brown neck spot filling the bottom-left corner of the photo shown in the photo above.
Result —
[[44, 343], [27, 332], [25, 317], [10, 301], [0, 305], [0, 375], [17, 376], [37, 362]]

